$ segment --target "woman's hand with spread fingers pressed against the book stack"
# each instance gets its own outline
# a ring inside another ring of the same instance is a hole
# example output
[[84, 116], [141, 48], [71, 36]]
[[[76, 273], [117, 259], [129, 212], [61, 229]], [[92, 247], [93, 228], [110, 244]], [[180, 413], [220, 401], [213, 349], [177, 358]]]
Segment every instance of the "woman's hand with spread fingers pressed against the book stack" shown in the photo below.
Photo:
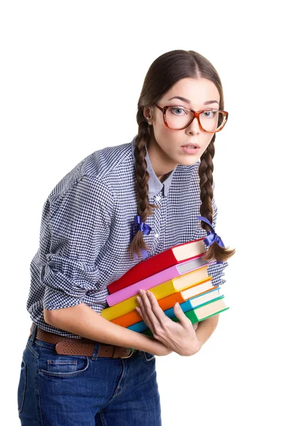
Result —
[[137, 301], [140, 308], [136, 308], [136, 310], [151, 329], [153, 337], [179, 355], [196, 354], [202, 346], [195, 333], [197, 327], [192, 326], [192, 322], [182, 311], [180, 305], [173, 307], [175, 316], [180, 321], [175, 322], [165, 315], [151, 291], [140, 290], [139, 293], [141, 297], [137, 297]]

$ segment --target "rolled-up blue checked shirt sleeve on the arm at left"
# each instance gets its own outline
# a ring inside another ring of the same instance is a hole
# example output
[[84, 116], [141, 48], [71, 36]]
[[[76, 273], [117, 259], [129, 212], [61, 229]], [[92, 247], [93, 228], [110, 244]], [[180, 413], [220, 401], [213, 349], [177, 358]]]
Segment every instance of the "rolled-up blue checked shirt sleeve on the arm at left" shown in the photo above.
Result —
[[96, 289], [96, 261], [109, 237], [114, 196], [104, 182], [84, 175], [47, 204], [50, 239], [40, 283], [43, 307], [56, 310], [79, 305], [88, 290]]

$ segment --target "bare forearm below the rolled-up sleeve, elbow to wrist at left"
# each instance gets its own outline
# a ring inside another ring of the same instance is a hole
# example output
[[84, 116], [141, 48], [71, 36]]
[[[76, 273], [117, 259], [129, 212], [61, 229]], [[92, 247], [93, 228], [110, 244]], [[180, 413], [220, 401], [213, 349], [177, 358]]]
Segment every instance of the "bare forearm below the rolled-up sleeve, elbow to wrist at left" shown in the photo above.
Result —
[[155, 339], [133, 332], [106, 320], [102, 315], [83, 303], [58, 310], [45, 310], [45, 322], [67, 332], [78, 334], [98, 342], [124, 346], [154, 353]]

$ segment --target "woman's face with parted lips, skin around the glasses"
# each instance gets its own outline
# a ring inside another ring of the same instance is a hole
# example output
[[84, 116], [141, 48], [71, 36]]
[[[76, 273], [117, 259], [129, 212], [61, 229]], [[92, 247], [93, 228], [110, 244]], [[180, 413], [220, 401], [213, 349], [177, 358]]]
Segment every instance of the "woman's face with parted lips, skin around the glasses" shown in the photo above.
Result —
[[[175, 99], [170, 99], [175, 97]], [[177, 99], [176, 97], [182, 97]], [[185, 100], [187, 99], [188, 102]], [[205, 104], [205, 102], [210, 103]], [[213, 101], [213, 102], [212, 102]], [[217, 87], [205, 78], [183, 78], [171, 87], [157, 104], [160, 107], [170, 105], [200, 111], [202, 109], [219, 109], [220, 96]], [[153, 125], [153, 137], [148, 144], [148, 153], [155, 173], [159, 176], [169, 173], [177, 165], [193, 165], [209, 145], [214, 133], [200, 129], [195, 118], [192, 123], [182, 130], [168, 129], [163, 122], [163, 113], [157, 107], [144, 108], [143, 114]], [[150, 115], [151, 114], [151, 115]], [[151, 120], [149, 120], [151, 116]], [[197, 153], [188, 154], [182, 151], [182, 146], [196, 143], [200, 146]]]

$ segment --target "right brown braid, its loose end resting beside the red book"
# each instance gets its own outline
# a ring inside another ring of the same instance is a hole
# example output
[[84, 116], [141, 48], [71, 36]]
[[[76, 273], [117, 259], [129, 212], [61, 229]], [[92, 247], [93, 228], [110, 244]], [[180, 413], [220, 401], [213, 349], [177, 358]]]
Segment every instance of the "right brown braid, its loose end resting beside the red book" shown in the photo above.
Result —
[[[202, 204], [200, 205], [200, 215], [203, 217], [206, 217], [206, 219], [209, 220], [209, 222], [212, 222], [213, 219], [213, 207], [212, 207], [212, 199], [213, 199], [213, 170], [214, 165], [212, 159], [214, 158], [215, 154], [215, 141], [214, 134], [211, 142], [209, 143], [209, 146], [207, 146], [206, 151], [202, 154], [200, 158], [200, 166], [199, 166], [199, 175], [200, 175], [200, 200], [202, 201]], [[201, 221], [201, 227], [205, 229], [205, 231], [212, 231], [211, 226], [209, 226], [206, 222]], [[233, 256], [233, 254], [236, 252], [235, 249], [227, 249], [225, 247], [219, 246], [217, 242], [215, 241], [211, 246], [209, 246], [209, 249], [207, 253], [203, 256], [203, 259], [206, 261], [210, 261], [212, 259], [216, 261], [226, 261], [228, 258]]]

